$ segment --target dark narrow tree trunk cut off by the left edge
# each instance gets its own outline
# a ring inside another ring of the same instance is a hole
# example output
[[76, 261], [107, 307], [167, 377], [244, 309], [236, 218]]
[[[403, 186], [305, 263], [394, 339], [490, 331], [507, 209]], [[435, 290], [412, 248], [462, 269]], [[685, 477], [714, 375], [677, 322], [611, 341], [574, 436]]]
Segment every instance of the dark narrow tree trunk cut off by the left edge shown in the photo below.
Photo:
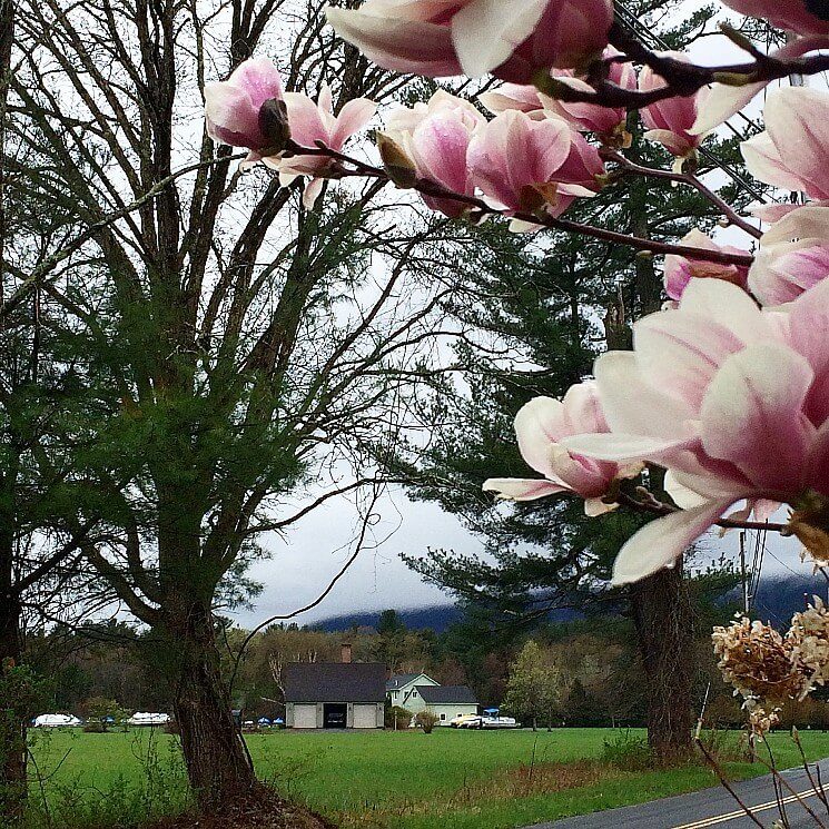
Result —
[[10, 591], [0, 601], [0, 815], [10, 823], [22, 817], [26, 805], [24, 700], [17, 699], [11, 671], [20, 664], [20, 602]]

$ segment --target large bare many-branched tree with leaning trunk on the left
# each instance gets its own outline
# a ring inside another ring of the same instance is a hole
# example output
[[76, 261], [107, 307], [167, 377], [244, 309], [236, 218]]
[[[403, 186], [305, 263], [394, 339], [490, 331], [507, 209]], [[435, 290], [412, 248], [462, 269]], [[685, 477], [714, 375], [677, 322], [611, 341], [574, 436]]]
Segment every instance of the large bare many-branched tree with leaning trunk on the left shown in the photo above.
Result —
[[106, 526], [85, 551], [152, 630], [205, 807], [255, 784], [219, 673], [218, 585], [284, 525], [285, 495], [323, 472], [374, 476], [431, 344], [454, 333], [440, 322], [454, 288], [442, 223], [389, 210], [376, 182], [329, 189], [309, 213], [204, 132], [204, 83], [255, 51], [278, 58], [289, 89], [330, 82], [338, 107], [397, 91], [405, 81], [334, 40], [320, 12], [21, 4], [10, 125], [39, 159], [21, 175], [73, 221], [62, 246], [10, 269], [2, 310], [42, 294], [116, 398], [85, 426], [83, 515]]

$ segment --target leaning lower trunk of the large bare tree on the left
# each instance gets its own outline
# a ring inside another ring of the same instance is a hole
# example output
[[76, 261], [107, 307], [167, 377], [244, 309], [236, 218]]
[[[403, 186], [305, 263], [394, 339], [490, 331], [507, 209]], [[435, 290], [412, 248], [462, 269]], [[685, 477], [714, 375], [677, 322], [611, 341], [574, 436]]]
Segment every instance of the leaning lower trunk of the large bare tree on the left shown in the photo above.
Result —
[[250, 756], [231, 712], [219, 669], [213, 615], [188, 602], [169, 625], [167, 653], [175, 679], [174, 711], [190, 787], [204, 811], [256, 787]]

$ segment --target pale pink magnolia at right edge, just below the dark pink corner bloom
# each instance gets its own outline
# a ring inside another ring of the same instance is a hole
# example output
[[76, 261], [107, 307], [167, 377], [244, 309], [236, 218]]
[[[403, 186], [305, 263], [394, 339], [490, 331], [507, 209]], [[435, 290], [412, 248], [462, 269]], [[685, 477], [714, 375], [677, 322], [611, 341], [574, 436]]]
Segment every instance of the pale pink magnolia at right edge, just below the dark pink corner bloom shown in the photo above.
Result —
[[766, 99], [766, 131], [741, 145], [756, 178], [829, 199], [829, 92], [788, 87]]

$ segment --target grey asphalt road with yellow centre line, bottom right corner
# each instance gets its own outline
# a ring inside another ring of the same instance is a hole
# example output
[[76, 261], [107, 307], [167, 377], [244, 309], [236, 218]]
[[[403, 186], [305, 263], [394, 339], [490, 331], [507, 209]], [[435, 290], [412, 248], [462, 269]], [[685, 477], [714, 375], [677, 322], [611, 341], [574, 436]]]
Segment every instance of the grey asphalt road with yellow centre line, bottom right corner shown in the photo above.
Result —
[[[821, 763], [821, 770], [823, 769]], [[829, 827], [827, 808], [812, 790], [803, 769], [791, 769], [782, 772], [786, 782], [801, 796], [803, 802]], [[823, 777], [826, 781], [826, 776]], [[771, 827], [780, 819], [774, 787], [771, 777], [761, 777], [734, 784], [740, 799], [757, 815], [763, 827]], [[798, 802], [798, 799], [786, 788], [783, 797], [790, 829], [816, 829], [820, 823]], [[827, 784], [829, 792], [829, 784]], [[829, 799], [829, 798], [828, 798]], [[655, 800], [641, 806], [629, 806], [624, 809], [611, 809], [568, 818], [554, 823], [539, 823], [527, 829], [758, 829], [739, 803], [722, 788], [705, 789], [691, 795]]]

